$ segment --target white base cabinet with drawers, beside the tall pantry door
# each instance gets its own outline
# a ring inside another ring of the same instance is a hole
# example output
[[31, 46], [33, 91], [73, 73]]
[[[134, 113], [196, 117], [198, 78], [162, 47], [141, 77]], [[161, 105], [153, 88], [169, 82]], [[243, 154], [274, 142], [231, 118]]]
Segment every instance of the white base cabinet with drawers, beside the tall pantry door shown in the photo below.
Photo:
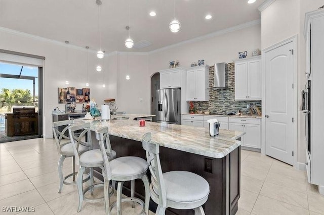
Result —
[[260, 119], [230, 117], [229, 130], [245, 131], [246, 134], [241, 137], [241, 145], [251, 148], [260, 148], [261, 129]]

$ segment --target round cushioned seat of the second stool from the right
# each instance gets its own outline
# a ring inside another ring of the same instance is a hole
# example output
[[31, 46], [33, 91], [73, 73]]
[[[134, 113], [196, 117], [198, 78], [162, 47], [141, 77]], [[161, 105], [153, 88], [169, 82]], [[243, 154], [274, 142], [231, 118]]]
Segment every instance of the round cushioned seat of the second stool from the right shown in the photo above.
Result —
[[147, 171], [147, 162], [143, 158], [134, 156], [117, 157], [109, 162], [111, 176], [114, 177], [132, 177], [139, 174], [145, 174]]

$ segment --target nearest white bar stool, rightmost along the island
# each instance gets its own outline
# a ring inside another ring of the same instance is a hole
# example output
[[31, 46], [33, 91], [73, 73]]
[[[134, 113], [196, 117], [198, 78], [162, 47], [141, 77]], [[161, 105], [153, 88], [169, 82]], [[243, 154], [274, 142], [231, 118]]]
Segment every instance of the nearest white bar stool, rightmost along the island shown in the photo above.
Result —
[[210, 192], [208, 182], [197, 174], [187, 171], [162, 173], [159, 159], [159, 145], [151, 143], [151, 133], [142, 137], [142, 146], [146, 150], [148, 168], [151, 172], [150, 195], [158, 204], [156, 213], [165, 214], [166, 208], [194, 209], [194, 214], [204, 215], [202, 205]]

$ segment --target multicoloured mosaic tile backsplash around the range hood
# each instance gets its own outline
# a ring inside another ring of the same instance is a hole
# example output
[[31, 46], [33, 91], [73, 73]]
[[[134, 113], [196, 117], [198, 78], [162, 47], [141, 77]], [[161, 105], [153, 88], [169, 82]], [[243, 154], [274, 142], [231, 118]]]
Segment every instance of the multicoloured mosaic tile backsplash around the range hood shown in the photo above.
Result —
[[[214, 86], [214, 66], [209, 68], [209, 87]], [[234, 63], [225, 64], [225, 82], [227, 89], [210, 88], [209, 101], [194, 101], [196, 111], [209, 111], [211, 114], [225, 115], [227, 112], [240, 110], [250, 114], [247, 105], [255, 104], [261, 111], [261, 101], [235, 101], [234, 99]]]

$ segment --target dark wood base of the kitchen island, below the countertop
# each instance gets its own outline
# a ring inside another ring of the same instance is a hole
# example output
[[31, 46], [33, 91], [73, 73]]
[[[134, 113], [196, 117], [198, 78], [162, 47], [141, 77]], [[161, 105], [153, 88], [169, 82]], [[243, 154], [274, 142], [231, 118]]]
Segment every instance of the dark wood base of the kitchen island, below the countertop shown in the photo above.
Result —
[[[92, 138], [95, 139], [94, 132]], [[112, 149], [117, 152], [117, 157], [139, 156], [146, 159], [142, 142], [112, 135], [110, 135], [110, 141]], [[93, 143], [96, 144], [97, 141], [94, 140]], [[240, 196], [240, 146], [223, 158], [212, 158], [160, 146], [160, 161], [163, 172], [173, 170], [190, 171], [208, 181], [210, 194], [203, 206], [207, 215], [236, 213], [237, 200]], [[205, 171], [206, 168], [212, 170], [212, 173]], [[96, 174], [96, 177], [102, 180], [100, 174]], [[129, 188], [130, 183], [125, 183], [123, 193], [130, 195]], [[138, 197], [144, 199], [144, 186], [141, 181], [135, 183], [135, 192]], [[155, 202], [151, 200], [150, 210], [155, 212], [156, 206]], [[166, 214], [194, 214], [194, 211], [168, 208]]]

